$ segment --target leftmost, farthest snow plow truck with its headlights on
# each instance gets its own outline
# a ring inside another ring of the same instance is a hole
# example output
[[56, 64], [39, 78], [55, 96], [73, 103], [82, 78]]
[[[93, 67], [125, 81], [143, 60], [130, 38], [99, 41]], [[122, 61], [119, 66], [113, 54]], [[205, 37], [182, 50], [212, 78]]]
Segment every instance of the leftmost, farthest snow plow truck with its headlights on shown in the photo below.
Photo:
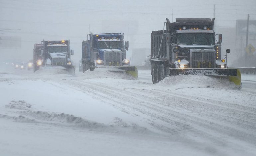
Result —
[[73, 75], [75, 67], [71, 61], [71, 55], [74, 55], [74, 51], [70, 50], [69, 40], [43, 40], [41, 44], [34, 45], [34, 72], [37, 70], [55, 69], [60, 71], [60, 73]]

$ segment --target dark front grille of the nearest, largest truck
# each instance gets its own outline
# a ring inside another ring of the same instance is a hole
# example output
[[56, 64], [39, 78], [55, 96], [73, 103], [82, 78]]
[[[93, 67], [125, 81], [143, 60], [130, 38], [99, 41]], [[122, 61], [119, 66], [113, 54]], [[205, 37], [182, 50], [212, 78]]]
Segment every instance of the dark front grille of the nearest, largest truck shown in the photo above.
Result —
[[191, 50], [190, 68], [215, 68], [214, 50]]

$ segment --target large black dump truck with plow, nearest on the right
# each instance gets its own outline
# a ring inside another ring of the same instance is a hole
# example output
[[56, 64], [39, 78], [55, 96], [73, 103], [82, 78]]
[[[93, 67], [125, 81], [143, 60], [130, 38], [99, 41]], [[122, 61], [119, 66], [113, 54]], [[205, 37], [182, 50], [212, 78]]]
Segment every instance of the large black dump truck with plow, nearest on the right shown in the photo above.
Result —
[[[176, 18], [176, 22], [170, 22], [166, 18], [163, 30], [152, 31], [153, 83], [158, 83], [167, 75], [206, 75], [227, 78], [238, 89], [241, 88], [240, 71], [227, 68], [227, 54], [222, 56], [222, 34], [214, 32], [214, 20]], [[218, 41], [215, 36], [218, 36]], [[226, 53], [229, 52], [227, 49]]]

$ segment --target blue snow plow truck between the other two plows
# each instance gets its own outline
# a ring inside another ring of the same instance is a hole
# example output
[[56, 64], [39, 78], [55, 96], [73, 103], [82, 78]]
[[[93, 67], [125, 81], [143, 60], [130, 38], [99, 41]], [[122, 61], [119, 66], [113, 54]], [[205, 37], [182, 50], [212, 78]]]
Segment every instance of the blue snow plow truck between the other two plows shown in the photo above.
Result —
[[126, 58], [128, 47], [129, 42], [124, 41], [124, 33], [88, 34], [87, 40], [82, 42], [83, 72], [125, 72], [137, 78], [137, 68], [130, 66], [130, 60]]

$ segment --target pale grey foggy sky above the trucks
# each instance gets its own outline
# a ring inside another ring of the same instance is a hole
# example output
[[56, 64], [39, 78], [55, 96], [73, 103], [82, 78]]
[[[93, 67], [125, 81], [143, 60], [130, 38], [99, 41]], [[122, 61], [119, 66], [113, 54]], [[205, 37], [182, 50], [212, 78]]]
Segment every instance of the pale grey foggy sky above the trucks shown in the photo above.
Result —
[[0, 4], [0, 30], [20, 29], [0, 31], [0, 37], [21, 38], [19, 48], [0, 48], [1, 60], [27, 61], [33, 58], [35, 43], [70, 39], [73, 60], [78, 62], [82, 40], [90, 31], [124, 32], [130, 42], [129, 58], [133, 48], [150, 48], [150, 33], [162, 30], [165, 18], [174, 22], [175, 18], [213, 18], [214, 4], [218, 33], [223, 33], [219, 27], [235, 27], [236, 20], [247, 19], [247, 14], [256, 19], [255, 0], [0, 0]]

